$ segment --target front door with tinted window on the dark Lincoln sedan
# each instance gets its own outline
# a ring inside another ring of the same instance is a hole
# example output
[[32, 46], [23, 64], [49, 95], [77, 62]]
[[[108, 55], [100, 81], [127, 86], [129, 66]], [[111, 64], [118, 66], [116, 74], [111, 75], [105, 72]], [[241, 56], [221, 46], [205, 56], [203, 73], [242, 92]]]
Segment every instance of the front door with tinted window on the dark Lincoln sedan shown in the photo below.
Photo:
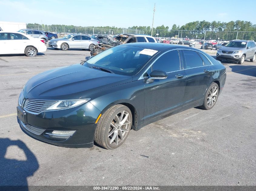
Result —
[[145, 80], [144, 121], [182, 106], [187, 76], [179, 55], [180, 51], [171, 50], [161, 55], [147, 71], [149, 75], [153, 70], [161, 70], [168, 77], [149, 84]]

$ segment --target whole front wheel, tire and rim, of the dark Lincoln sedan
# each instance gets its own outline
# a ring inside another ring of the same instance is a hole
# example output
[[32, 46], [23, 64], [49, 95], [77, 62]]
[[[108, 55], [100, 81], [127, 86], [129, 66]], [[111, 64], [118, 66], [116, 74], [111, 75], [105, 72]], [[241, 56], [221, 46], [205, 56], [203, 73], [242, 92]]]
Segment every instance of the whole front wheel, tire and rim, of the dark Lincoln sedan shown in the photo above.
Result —
[[[123, 112], [124, 114], [122, 114]], [[120, 119], [120, 122], [125, 120], [123, 121], [125, 127], [124, 125], [119, 126]], [[128, 137], [131, 130], [131, 125], [131, 110], [121, 104], [112, 106], [107, 111], [105, 111], [105, 113], [103, 113], [99, 119], [94, 134], [94, 141], [106, 149], [118, 148], [125, 142], [126, 138]]]

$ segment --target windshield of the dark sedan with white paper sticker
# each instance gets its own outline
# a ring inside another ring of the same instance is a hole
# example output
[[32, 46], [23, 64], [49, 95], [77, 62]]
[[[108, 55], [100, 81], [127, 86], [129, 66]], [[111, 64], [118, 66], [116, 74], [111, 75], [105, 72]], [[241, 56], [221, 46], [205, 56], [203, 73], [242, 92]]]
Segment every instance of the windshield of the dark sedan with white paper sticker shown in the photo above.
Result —
[[137, 74], [157, 52], [136, 46], [115, 46], [92, 57], [83, 65], [131, 76]]

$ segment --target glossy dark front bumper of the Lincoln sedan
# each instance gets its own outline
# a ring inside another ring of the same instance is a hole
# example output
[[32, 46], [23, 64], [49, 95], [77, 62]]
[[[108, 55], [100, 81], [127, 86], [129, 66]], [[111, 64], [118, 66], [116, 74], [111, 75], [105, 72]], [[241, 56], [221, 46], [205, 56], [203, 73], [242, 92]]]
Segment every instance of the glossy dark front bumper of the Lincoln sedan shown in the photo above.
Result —
[[[19, 106], [17, 108], [24, 110]], [[26, 112], [26, 124], [22, 119], [18, 121], [23, 131], [43, 142], [69, 148], [90, 148], [93, 146], [95, 121], [99, 114], [100, 111], [87, 102], [78, 107], [45, 111], [37, 115]], [[54, 130], [76, 132], [71, 136], [60, 136], [52, 135]]]

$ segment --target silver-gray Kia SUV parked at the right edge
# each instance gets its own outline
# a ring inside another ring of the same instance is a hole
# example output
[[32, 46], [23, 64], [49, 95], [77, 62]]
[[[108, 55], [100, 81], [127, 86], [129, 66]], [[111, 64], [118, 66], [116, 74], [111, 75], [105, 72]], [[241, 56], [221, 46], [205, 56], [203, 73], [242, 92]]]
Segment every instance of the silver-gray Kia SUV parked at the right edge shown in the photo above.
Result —
[[251, 62], [256, 58], [256, 44], [253, 40], [232, 40], [218, 49], [217, 60], [231, 60], [243, 64], [244, 60]]

